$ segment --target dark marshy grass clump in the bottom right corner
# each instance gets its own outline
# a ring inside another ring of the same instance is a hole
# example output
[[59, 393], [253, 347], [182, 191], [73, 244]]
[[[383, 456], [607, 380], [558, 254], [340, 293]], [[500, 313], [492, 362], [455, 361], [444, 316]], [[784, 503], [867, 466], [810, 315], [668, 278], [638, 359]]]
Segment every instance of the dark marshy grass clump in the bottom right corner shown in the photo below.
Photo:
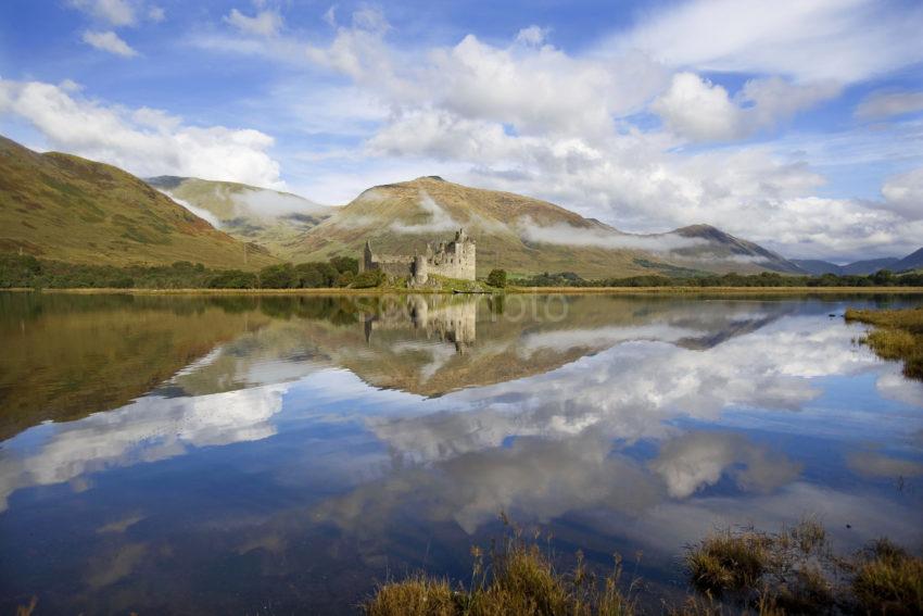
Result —
[[773, 535], [724, 529], [685, 562], [699, 594], [675, 614], [923, 614], [923, 560], [886, 539], [836, 555], [813, 519]]

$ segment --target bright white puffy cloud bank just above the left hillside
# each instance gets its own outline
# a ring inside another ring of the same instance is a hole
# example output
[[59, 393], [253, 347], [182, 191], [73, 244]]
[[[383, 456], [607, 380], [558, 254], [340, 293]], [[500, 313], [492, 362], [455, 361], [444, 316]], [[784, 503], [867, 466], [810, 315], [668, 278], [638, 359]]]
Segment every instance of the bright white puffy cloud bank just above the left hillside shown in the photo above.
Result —
[[273, 138], [253, 129], [198, 127], [164, 112], [126, 110], [41, 81], [0, 79], [0, 113], [33, 124], [66, 152], [142, 177], [194, 176], [283, 188]]

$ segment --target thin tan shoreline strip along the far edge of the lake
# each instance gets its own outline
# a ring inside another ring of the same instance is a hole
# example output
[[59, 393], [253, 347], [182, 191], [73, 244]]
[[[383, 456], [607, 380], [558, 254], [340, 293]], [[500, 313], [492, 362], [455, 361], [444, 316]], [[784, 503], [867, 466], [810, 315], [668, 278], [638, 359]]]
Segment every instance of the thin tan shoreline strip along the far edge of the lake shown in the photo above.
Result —
[[[143, 289], [143, 288], [62, 288], [31, 289], [12, 287], [0, 292], [60, 293], [75, 296], [384, 296], [384, 294], [456, 294], [444, 289]], [[495, 293], [483, 294], [612, 294], [612, 296], [733, 296], [733, 294], [921, 294], [923, 287], [507, 287]]]

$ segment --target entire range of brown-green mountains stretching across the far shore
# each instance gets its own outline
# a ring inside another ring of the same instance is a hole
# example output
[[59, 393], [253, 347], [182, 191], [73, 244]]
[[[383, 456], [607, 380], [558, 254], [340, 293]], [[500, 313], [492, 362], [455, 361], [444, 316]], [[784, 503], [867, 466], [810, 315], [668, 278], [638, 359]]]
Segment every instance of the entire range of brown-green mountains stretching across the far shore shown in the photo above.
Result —
[[478, 274], [573, 272], [587, 278], [649, 274], [873, 273], [923, 267], [901, 260], [839, 266], [788, 261], [709, 225], [620, 231], [539, 199], [438, 176], [376, 186], [342, 208], [243, 184], [160, 176], [146, 181], [79, 156], [39, 154], [0, 137], [0, 251], [76, 263], [200, 262], [256, 268], [423, 251], [459, 227], [478, 242]]

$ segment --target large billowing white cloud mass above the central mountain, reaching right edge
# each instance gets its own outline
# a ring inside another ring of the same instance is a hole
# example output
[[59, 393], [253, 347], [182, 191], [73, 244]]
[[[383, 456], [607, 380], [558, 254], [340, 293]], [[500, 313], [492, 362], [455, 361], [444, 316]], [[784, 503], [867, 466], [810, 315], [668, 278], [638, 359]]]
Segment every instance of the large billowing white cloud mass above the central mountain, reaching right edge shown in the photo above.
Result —
[[[364, 144], [372, 160], [467, 163], [456, 174], [463, 183], [538, 196], [620, 228], [708, 223], [791, 256], [877, 255], [916, 243], [920, 229], [881, 202], [817, 197], [826, 179], [799, 150], [682, 150], [690, 140], [768, 131], [836, 96], [836, 75], [767, 76], [731, 92], [693, 72], [671, 78], [633, 48], [577, 56], [544, 39], [503, 47], [467, 36], [410, 59], [387, 32], [354, 23], [308, 49], [311, 63], [391, 110]], [[622, 120], [645, 109], [670, 130]]]

